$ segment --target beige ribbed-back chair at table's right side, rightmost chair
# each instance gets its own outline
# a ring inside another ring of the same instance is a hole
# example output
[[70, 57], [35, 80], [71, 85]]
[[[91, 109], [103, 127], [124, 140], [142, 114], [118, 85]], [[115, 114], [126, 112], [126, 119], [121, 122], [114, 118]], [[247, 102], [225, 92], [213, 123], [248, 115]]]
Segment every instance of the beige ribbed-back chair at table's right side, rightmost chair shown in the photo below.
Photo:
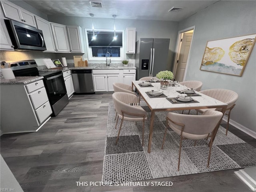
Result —
[[[226, 126], [226, 135], [228, 134], [228, 125], [229, 125], [229, 119], [230, 119], [230, 112], [236, 105], [235, 102], [238, 99], [238, 94], [232, 90], [228, 89], [207, 89], [207, 90], [202, 90], [200, 93], [205, 94], [207, 96], [210, 96], [214, 99], [217, 99], [219, 101], [222, 101], [226, 104], [228, 104], [225, 115], [228, 116], [228, 121], [227, 121], [227, 126]], [[198, 109], [197, 112], [204, 112], [207, 109]], [[208, 110], [217, 110], [221, 111], [219, 108], [213, 108], [213, 109], [208, 109]]]

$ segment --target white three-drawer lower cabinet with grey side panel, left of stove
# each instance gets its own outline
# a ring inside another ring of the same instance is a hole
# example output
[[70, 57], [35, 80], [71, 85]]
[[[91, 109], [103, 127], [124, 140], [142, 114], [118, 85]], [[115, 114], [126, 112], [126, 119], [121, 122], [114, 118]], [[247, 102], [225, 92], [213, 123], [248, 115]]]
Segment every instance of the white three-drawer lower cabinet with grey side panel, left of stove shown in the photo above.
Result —
[[1, 84], [0, 94], [2, 134], [37, 131], [52, 114], [42, 80], [26, 85]]

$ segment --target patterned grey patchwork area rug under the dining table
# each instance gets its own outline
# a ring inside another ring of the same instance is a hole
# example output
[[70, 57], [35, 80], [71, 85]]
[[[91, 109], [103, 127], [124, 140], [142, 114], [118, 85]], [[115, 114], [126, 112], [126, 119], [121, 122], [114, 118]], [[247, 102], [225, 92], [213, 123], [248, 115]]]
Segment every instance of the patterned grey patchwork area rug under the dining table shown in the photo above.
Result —
[[[145, 102], [142, 101], [140, 105], [148, 114], [143, 147], [142, 122], [135, 124], [135, 122], [124, 121], [118, 144], [115, 144], [120, 120], [115, 129], [114, 104], [113, 102], [109, 104], [102, 182], [134, 182], [256, 166], [256, 148], [231, 132], [228, 132], [226, 136], [226, 130], [220, 126], [212, 146], [209, 168], [206, 166], [209, 152], [208, 141], [198, 140], [194, 146], [194, 141], [183, 140], [180, 171], [178, 171], [180, 136], [169, 128], [164, 149], [161, 149], [167, 112], [155, 113], [152, 147], [151, 152], [148, 153], [151, 113]], [[196, 113], [194, 110], [191, 112]]]

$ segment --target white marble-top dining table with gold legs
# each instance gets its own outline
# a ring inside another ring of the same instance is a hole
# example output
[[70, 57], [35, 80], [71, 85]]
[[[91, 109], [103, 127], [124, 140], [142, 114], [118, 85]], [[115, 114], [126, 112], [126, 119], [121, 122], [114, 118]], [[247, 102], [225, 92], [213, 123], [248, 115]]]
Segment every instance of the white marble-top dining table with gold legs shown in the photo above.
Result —
[[[150, 131], [149, 131], [149, 139], [148, 139], [148, 153], [151, 151], [151, 144], [152, 144], [152, 137], [154, 132], [154, 115], [155, 112], [158, 111], [173, 111], [173, 110], [196, 110], [196, 109], [202, 109], [202, 108], [218, 108], [221, 110], [221, 112], [225, 113], [227, 104], [224, 102], [221, 102], [219, 100], [216, 100], [210, 96], [207, 96], [205, 94], [202, 94], [197, 91], [194, 92], [194, 96], [192, 94], [187, 94], [188, 96], [191, 96], [192, 101], [191, 102], [180, 102], [176, 98], [178, 95], [182, 94], [182, 90], [184, 90], [183, 85], [178, 86], [168, 86], [166, 89], [160, 89], [160, 82], [151, 82], [150, 84], [146, 83], [145, 81], [132, 81], [132, 88], [136, 88], [136, 91], [140, 95], [140, 98], [143, 98], [143, 100], [146, 102], [148, 107], [151, 110], [151, 118], [150, 118]], [[149, 93], [152, 93], [152, 91], [160, 91], [162, 92], [161, 95], [150, 95]], [[174, 100], [174, 102], [173, 102]], [[175, 102], [177, 101], [177, 102]], [[223, 117], [223, 116], [222, 116]], [[214, 131], [212, 132], [213, 137], [212, 141], [214, 140], [218, 128], [220, 126], [221, 120], [218, 122], [216, 127], [214, 128]]]

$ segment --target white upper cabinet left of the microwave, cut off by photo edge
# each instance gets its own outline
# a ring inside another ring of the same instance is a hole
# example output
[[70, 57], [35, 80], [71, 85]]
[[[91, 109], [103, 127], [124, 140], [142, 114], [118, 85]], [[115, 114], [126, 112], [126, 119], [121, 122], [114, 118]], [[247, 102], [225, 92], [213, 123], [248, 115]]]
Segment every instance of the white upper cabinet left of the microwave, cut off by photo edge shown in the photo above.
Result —
[[0, 9], [0, 50], [13, 50], [12, 42], [4, 23], [4, 14]]

